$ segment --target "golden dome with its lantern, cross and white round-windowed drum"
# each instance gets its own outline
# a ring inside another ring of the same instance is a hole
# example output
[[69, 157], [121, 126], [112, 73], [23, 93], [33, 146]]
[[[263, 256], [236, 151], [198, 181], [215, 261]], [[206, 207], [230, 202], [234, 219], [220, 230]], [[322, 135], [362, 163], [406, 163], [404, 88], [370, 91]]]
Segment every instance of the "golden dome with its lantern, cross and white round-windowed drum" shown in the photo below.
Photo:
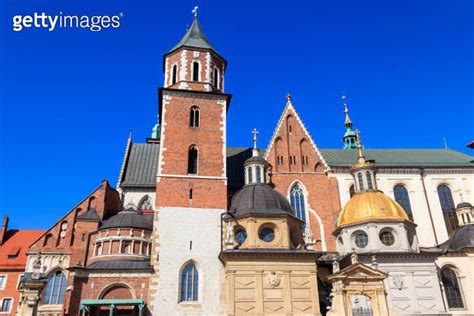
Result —
[[350, 167], [355, 194], [339, 213], [333, 233], [338, 251], [414, 250], [415, 224], [400, 204], [377, 189], [376, 165], [365, 158], [358, 130], [356, 143], [358, 158]]

